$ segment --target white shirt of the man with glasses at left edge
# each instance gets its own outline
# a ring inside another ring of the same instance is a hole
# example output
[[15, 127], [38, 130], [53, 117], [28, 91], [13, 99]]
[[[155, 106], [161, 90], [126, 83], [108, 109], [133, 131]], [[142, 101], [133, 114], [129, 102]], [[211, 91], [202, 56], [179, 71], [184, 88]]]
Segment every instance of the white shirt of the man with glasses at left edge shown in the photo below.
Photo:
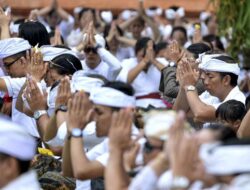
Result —
[[13, 98], [13, 100], [12, 100], [12, 116], [11, 116], [12, 121], [23, 126], [23, 128], [30, 135], [32, 135], [34, 137], [39, 137], [39, 133], [37, 131], [35, 119], [28, 117], [27, 115], [19, 112], [16, 109], [17, 97], [18, 97], [19, 91], [21, 90], [22, 86], [24, 85], [24, 83], [26, 81], [26, 78], [25, 77], [11, 78], [9, 76], [1, 77], [1, 78], [4, 80], [4, 82], [7, 86], [9, 96]]

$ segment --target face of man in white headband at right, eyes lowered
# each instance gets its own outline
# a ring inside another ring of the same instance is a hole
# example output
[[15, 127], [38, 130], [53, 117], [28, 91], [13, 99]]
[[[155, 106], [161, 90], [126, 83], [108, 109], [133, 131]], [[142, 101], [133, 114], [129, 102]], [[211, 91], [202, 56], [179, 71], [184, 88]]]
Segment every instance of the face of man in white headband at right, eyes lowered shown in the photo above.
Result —
[[218, 97], [218, 94], [224, 90], [221, 75], [218, 72], [201, 71], [201, 79], [205, 89], [212, 95]]

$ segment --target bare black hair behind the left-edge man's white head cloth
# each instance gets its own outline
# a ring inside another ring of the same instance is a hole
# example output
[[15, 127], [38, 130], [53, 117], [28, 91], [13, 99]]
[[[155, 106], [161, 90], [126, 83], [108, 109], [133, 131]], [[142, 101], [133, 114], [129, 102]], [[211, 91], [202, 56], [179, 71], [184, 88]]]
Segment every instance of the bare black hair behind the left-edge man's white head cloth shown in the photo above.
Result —
[[24, 38], [31, 46], [50, 45], [49, 34], [43, 24], [36, 21], [24, 22], [19, 27], [18, 36]]

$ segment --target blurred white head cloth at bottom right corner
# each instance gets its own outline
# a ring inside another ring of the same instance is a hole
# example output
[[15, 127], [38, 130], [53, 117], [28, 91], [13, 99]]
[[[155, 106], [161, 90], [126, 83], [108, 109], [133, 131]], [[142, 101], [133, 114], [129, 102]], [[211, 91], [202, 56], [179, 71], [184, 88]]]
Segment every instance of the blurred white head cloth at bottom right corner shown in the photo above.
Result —
[[206, 172], [212, 175], [230, 175], [250, 172], [250, 145], [204, 144], [200, 148]]

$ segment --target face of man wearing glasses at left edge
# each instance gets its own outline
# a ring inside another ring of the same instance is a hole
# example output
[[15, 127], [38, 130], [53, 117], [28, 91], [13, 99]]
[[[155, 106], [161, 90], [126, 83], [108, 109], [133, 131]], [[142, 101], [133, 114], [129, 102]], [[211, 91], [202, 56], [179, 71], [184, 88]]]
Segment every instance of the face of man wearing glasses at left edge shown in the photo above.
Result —
[[4, 69], [12, 78], [24, 77], [26, 75], [25, 63], [21, 58], [7, 57], [3, 60]]

